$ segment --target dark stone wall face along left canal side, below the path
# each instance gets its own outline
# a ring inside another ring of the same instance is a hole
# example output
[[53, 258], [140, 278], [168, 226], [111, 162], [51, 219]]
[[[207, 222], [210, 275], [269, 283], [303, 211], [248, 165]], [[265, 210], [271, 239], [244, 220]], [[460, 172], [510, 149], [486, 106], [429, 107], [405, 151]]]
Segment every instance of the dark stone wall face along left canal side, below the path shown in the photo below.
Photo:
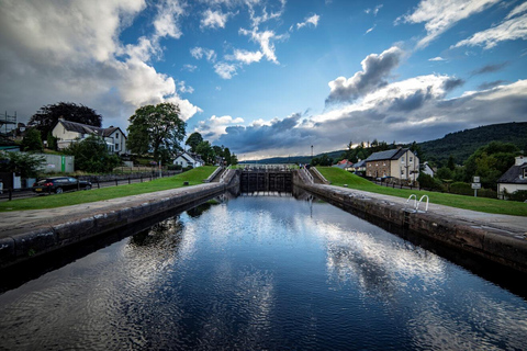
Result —
[[[46, 223], [10, 230], [9, 234], [0, 237], [0, 268], [26, 261], [115, 229], [133, 226], [169, 211], [173, 212], [191, 204], [198, 205], [223, 194], [229, 188], [239, 186], [239, 177], [236, 172], [229, 176], [225, 183], [183, 188], [173, 194], [152, 193], [153, 195], [146, 201], [123, 202], [121, 205], [92, 213], [71, 213], [67, 220], [53, 220], [52, 217]], [[53, 216], [53, 210], [48, 212]]]

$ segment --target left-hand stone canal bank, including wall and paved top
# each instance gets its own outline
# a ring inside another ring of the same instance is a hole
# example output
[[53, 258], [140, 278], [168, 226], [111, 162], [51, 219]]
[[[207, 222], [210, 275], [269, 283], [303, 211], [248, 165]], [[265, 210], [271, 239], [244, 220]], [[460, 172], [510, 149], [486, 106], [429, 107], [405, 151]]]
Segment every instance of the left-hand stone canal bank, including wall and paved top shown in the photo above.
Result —
[[53, 210], [2, 213], [0, 268], [221, 195], [239, 185], [236, 172], [227, 172], [223, 182]]

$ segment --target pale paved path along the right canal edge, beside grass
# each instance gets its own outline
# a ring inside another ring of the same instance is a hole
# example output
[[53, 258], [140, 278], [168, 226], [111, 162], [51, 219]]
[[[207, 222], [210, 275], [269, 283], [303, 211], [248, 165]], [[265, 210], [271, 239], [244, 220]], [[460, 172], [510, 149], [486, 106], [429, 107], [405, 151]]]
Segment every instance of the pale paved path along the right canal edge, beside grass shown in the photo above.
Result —
[[[379, 199], [391, 203], [396, 204], [406, 204], [406, 199], [403, 197], [395, 197], [390, 195], [382, 195], [377, 193], [370, 193], [367, 191], [360, 191], [355, 189], [348, 188], [340, 188], [335, 185], [319, 185], [319, 186], [327, 186], [328, 189], [339, 190], [344, 192], [354, 193], [356, 195], [361, 195], [366, 197]], [[445, 205], [437, 205], [434, 204], [434, 194], [430, 193], [430, 203], [428, 205], [428, 212], [437, 213], [444, 215], [448, 218], [457, 218], [457, 219], [464, 219], [470, 223], [473, 223], [474, 226], [486, 226], [490, 228], [495, 228], [504, 231], [509, 231], [514, 234], [514, 236], [523, 236], [524, 239], [527, 239], [527, 217], [525, 216], [509, 216], [509, 215], [497, 215], [497, 214], [489, 214], [478, 211], [470, 211], [470, 210], [461, 210]], [[418, 200], [417, 200], [418, 201]], [[408, 204], [408, 208], [413, 206], [414, 200], [412, 200]], [[506, 206], [506, 202], [504, 202], [504, 206]], [[424, 203], [419, 205], [419, 210], [425, 208]], [[527, 206], [527, 204], [526, 204]]]

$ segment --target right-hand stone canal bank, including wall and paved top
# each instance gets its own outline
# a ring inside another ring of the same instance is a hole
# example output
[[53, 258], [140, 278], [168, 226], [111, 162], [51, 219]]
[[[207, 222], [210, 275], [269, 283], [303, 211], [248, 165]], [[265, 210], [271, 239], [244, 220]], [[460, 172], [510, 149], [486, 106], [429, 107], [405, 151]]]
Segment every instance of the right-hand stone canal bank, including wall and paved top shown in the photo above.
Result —
[[[527, 273], [527, 217], [479, 213], [431, 204], [415, 211], [413, 201], [311, 183], [294, 178], [295, 185], [366, 219], [394, 224], [417, 236], [471, 252]], [[430, 195], [431, 196], [431, 195]]]

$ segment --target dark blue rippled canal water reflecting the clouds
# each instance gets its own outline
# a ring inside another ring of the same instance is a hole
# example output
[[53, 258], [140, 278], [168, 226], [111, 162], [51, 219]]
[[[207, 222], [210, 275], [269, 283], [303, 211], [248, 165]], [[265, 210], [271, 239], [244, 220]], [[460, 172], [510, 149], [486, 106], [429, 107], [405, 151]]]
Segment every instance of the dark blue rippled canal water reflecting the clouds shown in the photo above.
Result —
[[1, 350], [525, 350], [527, 302], [316, 200], [239, 196], [0, 295]]

